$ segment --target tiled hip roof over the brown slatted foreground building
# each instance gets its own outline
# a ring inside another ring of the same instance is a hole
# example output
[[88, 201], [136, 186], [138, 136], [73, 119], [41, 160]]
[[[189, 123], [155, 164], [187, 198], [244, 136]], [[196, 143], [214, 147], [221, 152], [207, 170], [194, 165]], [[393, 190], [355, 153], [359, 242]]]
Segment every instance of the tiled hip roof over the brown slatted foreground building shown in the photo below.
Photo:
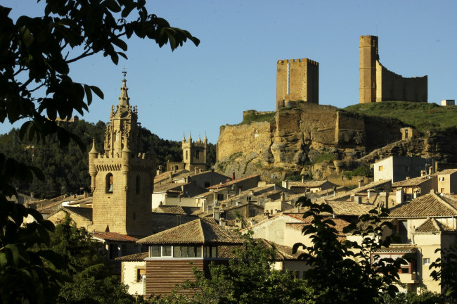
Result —
[[231, 232], [207, 220], [193, 220], [186, 224], [153, 234], [137, 243], [243, 243], [236, 232]]

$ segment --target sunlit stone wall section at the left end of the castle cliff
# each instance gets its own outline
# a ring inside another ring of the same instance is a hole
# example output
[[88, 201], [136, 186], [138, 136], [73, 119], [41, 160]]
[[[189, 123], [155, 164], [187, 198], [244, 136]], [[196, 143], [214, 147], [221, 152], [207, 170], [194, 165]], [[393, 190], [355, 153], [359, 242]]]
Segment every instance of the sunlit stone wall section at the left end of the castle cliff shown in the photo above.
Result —
[[217, 160], [245, 151], [254, 151], [261, 157], [271, 146], [271, 131], [270, 122], [221, 126], [217, 141]]

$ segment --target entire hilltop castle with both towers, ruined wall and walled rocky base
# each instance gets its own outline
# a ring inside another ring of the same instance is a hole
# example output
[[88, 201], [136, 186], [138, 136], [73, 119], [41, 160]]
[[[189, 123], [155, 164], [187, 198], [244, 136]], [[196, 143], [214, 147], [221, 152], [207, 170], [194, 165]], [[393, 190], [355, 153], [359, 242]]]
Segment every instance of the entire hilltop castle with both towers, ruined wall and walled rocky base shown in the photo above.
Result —
[[[359, 68], [360, 103], [427, 102], [427, 76], [404, 78], [384, 68], [378, 37], [360, 37]], [[353, 160], [402, 139], [406, 126], [399, 120], [367, 118], [318, 103], [318, 63], [277, 61], [276, 113], [243, 114], [274, 115], [274, 120], [221, 126], [217, 170], [226, 175], [261, 172], [264, 180], [274, 182], [285, 172], [309, 173], [307, 164], [328, 153], [335, 157], [333, 172], [341, 173], [354, 169]]]

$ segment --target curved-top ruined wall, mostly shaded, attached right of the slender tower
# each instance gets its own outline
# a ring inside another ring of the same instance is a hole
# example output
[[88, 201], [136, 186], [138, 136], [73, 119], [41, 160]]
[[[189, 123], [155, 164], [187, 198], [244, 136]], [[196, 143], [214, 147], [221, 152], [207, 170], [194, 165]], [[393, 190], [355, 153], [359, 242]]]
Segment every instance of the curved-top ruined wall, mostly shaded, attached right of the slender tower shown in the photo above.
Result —
[[376, 102], [427, 102], [427, 76], [401, 77], [376, 61]]

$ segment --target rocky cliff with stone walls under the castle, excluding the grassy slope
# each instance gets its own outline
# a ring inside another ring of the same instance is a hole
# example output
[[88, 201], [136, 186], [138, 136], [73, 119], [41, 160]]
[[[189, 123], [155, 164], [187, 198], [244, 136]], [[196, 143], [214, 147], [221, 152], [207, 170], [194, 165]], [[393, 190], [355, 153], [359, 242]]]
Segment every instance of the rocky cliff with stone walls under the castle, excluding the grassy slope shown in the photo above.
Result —
[[[255, 111], [250, 115], [256, 115]], [[300, 103], [271, 115], [273, 121], [221, 126], [218, 172], [231, 176], [234, 171], [236, 177], [260, 174], [268, 182], [277, 182], [288, 175], [312, 175], [314, 179], [341, 175], [391, 155], [457, 163], [457, 144], [446, 133], [428, 132], [426, 137], [401, 140], [400, 129], [406, 125], [394, 118], [313, 103]]]

